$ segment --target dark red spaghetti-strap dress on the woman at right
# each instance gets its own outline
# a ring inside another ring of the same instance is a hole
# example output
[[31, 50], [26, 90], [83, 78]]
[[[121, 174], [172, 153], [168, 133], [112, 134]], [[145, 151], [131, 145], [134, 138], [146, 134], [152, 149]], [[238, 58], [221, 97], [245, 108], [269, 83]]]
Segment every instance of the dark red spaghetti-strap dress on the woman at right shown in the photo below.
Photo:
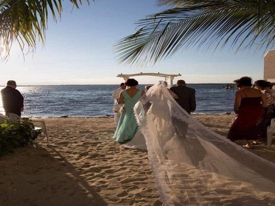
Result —
[[[245, 92], [243, 91], [245, 94]], [[246, 94], [245, 94], [246, 96]], [[242, 98], [239, 113], [233, 122], [227, 138], [232, 142], [237, 140], [257, 140], [256, 124], [263, 114], [261, 97]]]

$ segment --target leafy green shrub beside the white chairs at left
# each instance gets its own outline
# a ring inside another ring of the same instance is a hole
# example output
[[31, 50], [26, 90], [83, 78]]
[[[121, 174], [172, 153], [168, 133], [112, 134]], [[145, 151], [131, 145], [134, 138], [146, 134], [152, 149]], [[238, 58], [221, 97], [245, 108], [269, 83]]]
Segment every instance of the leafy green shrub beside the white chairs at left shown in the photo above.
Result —
[[0, 122], [0, 156], [13, 152], [15, 147], [24, 147], [33, 143], [43, 130], [34, 129], [34, 125], [29, 118], [23, 118], [21, 122], [11, 122], [8, 120]]

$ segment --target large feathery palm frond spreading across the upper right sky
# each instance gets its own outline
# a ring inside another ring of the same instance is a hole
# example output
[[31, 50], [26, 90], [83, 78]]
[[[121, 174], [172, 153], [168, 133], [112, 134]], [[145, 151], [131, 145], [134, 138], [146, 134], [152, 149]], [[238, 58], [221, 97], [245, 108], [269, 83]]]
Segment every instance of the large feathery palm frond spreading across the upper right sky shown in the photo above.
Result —
[[[119, 64], [146, 66], [178, 50], [267, 51], [275, 44], [274, 0], [159, 0], [170, 9], [138, 21], [138, 31], [118, 41]], [[254, 47], [254, 46], [257, 47]]]

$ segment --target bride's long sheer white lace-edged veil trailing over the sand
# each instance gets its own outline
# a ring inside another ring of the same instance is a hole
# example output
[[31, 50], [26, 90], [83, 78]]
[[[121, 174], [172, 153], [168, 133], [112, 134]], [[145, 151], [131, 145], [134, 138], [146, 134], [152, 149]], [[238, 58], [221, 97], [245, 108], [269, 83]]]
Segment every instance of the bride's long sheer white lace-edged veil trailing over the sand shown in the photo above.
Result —
[[275, 205], [275, 164], [192, 118], [164, 82], [134, 112], [164, 205]]

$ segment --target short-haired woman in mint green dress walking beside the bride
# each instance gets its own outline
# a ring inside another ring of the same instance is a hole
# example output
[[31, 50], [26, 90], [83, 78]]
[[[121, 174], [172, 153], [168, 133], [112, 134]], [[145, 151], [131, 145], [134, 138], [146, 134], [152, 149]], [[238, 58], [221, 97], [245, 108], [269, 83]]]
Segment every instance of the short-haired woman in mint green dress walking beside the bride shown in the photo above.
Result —
[[139, 90], [138, 81], [135, 79], [128, 79], [125, 82], [129, 89], [123, 90], [120, 93], [118, 102], [124, 104], [125, 112], [121, 114], [117, 130], [113, 136], [113, 139], [117, 142], [124, 142], [131, 140], [138, 130], [138, 124], [134, 115], [134, 105], [138, 102], [139, 98], [145, 94], [145, 91]]

